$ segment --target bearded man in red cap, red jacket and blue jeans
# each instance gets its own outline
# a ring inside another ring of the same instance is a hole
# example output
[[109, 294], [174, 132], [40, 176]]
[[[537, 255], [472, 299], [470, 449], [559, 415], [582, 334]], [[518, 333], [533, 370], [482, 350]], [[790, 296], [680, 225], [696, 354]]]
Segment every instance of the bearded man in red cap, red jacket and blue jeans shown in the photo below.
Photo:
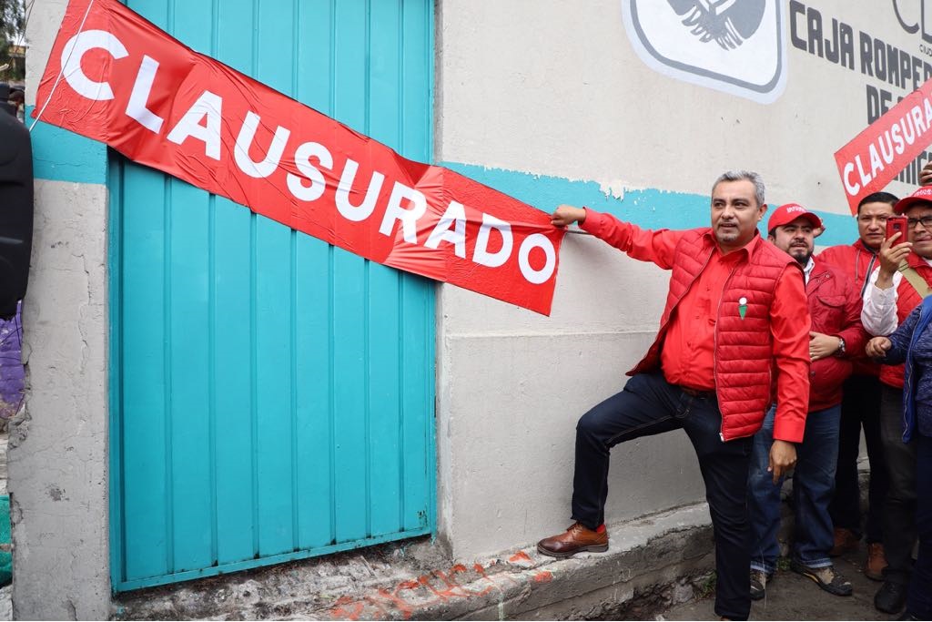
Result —
[[[790, 569], [809, 577], [830, 594], [849, 596], [851, 583], [831, 563], [832, 535], [829, 503], [835, 490], [838, 431], [842, 416], [842, 384], [851, 374], [851, 358], [862, 352], [867, 335], [861, 326], [860, 290], [842, 270], [813, 258], [822, 220], [797, 203], [782, 205], [767, 222], [767, 239], [802, 267], [806, 283], [810, 328], [809, 414], [805, 435], [796, 446], [793, 507], [796, 537]], [[751, 548], [750, 594], [763, 598], [774, 576], [780, 547], [780, 488], [767, 470], [767, 455], [774, 443], [771, 408], [760, 432], [754, 435], [748, 477], [748, 505], [754, 545]]]

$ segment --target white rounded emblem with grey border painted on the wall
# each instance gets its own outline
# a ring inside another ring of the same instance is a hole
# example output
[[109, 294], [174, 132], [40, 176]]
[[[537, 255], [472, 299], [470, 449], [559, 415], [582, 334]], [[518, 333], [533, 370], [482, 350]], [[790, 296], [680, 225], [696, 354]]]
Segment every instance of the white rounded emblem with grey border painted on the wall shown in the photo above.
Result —
[[779, 0], [622, 0], [624, 26], [652, 69], [770, 104], [786, 85]]

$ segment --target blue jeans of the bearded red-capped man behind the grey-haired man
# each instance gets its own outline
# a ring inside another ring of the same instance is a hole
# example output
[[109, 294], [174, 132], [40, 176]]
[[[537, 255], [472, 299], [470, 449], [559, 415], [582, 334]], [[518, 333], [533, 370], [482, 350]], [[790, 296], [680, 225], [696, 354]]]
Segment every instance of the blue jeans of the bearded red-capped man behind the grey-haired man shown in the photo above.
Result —
[[[767, 411], [761, 431], [754, 435], [747, 483], [754, 543], [750, 567], [768, 574], [776, 570], [776, 559], [780, 554], [776, 532], [780, 527], [780, 489], [783, 487], [783, 478], [774, 485], [774, 475], [767, 472], [770, 447], [774, 444], [774, 412], [774, 408]], [[810, 412], [806, 416], [802, 443], [796, 445], [793, 473], [796, 532], [792, 557], [811, 568], [831, 565], [829, 549], [834, 537], [829, 502], [835, 490], [841, 414], [841, 406]]]

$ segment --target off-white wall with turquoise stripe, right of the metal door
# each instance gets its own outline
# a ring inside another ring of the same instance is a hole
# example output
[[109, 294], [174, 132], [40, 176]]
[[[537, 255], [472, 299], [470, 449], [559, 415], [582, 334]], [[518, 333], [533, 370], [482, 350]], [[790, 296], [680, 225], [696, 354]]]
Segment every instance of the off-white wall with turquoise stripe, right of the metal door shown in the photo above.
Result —
[[[707, 225], [716, 176], [754, 170], [772, 205], [801, 201], [825, 215], [821, 244], [853, 242], [833, 153], [868, 124], [870, 89], [895, 104], [913, 88], [865, 73], [858, 35], [932, 62], [922, 29], [907, 33], [893, 7], [911, 25], [921, 3], [781, 2], [785, 86], [771, 104], [648, 66], [624, 25], [631, 4], [442, 2], [436, 158], [548, 212], [587, 203], [650, 228]], [[827, 58], [833, 19], [851, 26], [853, 68]], [[690, 45], [689, 29], [677, 36]], [[440, 517], [457, 557], [569, 524], [575, 422], [621, 389], [656, 331], [662, 270], [573, 235], [560, 261], [550, 318], [440, 288]], [[703, 498], [683, 434], [629, 445], [613, 451], [609, 521]]]

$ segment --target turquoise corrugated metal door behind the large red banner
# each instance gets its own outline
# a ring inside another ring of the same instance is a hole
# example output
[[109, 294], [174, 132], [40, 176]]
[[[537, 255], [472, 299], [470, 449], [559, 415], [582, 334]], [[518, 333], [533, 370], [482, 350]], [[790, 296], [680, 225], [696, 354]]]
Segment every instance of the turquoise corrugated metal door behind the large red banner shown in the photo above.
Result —
[[[432, 0], [130, 0], [432, 156]], [[111, 154], [116, 590], [432, 532], [433, 288]]]

